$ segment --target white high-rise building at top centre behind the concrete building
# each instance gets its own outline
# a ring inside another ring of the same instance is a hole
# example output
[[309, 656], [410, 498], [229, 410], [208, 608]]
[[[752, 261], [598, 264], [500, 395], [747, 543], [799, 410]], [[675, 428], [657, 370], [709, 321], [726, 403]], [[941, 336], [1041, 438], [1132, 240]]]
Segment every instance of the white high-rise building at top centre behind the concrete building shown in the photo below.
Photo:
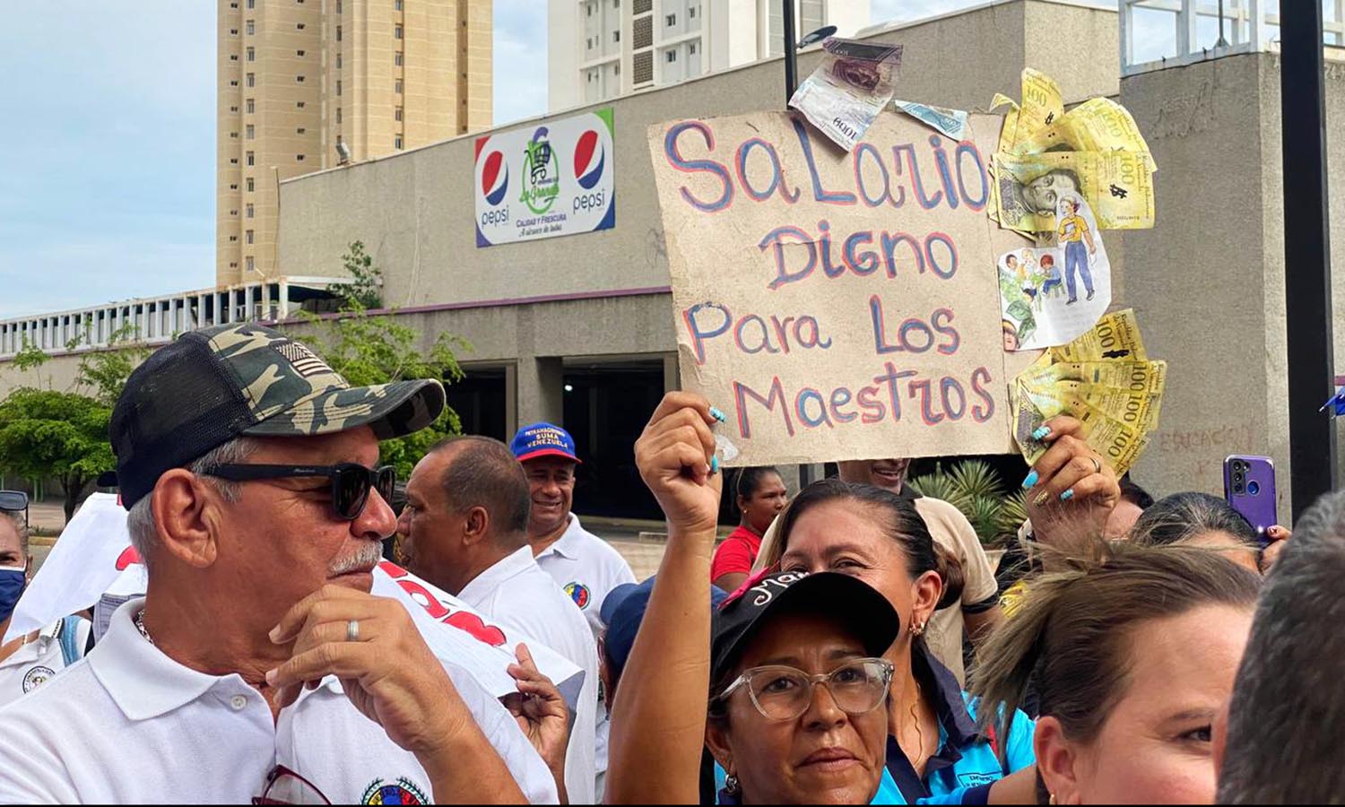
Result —
[[[794, 0], [799, 36], [869, 24], [869, 0]], [[784, 52], [779, 0], [547, 0], [547, 108], [599, 104]]]

